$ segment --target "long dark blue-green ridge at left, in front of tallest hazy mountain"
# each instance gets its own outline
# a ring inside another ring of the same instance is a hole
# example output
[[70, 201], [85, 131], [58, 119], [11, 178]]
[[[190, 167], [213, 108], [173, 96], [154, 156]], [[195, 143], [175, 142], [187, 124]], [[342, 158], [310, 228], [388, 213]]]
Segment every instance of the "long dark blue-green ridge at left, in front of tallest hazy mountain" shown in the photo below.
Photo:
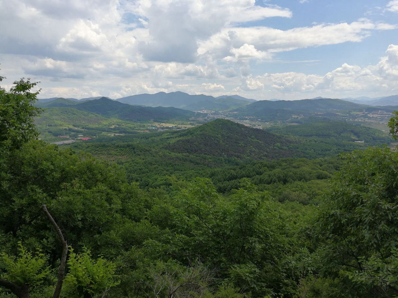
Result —
[[170, 120], [188, 120], [195, 116], [195, 112], [182, 110], [179, 108], [165, 107], [149, 107], [149, 106], [132, 106], [130, 104], [113, 101], [106, 97], [93, 99], [88, 101], [70, 102], [67, 99], [56, 99], [45, 103], [45, 107], [69, 107], [77, 110], [92, 112], [105, 117], [113, 117], [121, 120], [129, 121], [159, 121], [165, 122]]

